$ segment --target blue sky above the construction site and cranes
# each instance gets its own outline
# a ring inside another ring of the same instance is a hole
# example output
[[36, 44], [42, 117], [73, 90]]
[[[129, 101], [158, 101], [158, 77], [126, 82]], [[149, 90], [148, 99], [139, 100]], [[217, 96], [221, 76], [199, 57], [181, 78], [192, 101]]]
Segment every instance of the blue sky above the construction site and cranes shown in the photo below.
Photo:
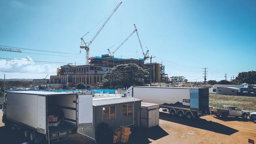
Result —
[[[69, 57], [22, 50], [0, 51], [0, 78], [44, 78], [56, 74], [59, 63], [85, 63], [80, 37], [90, 41], [118, 0], [1, 0], [0, 45], [67, 52]], [[254, 0], [123, 0], [90, 46], [90, 56], [113, 51], [136, 24], [143, 48], [152, 61], [163, 62], [169, 76], [199, 79], [203, 67], [208, 79], [228, 79], [256, 70], [256, 1]], [[101, 21], [103, 20], [103, 21]], [[101, 21], [101, 22], [100, 22]], [[100, 22], [100, 23], [99, 23]], [[99, 23], [99, 24], [98, 24]], [[98, 24], [98, 25], [97, 25]], [[30, 54], [37, 53], [37, 54]], [[75, 53], [75, 54], [73, 54]], [[142, 58], [136, 35], [115, 57]], [[22, 59], [10, 61], [8, 59]], [[148, 61], [149, 62], [149, 61]], [[13, 72], [19, 73], [13, 73]], [[12, 73], [10, 73], [12, 72]], [[49, 77], [48, 77], [49, 78]], [[195, 80], [193, 80], [195, 81]]]

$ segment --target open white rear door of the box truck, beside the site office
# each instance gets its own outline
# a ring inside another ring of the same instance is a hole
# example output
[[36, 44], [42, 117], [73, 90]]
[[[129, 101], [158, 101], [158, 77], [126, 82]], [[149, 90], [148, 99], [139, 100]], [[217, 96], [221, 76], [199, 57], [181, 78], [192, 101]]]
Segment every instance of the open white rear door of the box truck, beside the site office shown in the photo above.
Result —
[[93, 96], [78, 95], [78, 127], [93, 126]]

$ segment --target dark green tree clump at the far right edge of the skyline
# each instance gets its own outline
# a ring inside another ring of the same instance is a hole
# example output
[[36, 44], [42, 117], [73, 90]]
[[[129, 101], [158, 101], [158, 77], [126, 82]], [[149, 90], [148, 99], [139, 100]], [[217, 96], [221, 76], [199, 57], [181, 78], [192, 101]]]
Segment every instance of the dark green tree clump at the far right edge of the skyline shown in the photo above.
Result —
[[239, 72], [236, 79], [241, 81], [241, 83], [255, 84], [256, 83], [256, 71]]

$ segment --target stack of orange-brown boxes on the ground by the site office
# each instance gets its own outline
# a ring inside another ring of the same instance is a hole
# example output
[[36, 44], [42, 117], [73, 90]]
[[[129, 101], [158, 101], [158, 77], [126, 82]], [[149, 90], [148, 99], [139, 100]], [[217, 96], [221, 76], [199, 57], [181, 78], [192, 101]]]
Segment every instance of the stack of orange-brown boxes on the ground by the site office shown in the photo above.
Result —
[[116, 129], [114, 130], [114, 135], [113, 135], [113, 143], [117, 143], [117, 142], [122, 142], [122, 143], [126, 143], [129, 140], [129, 136], [130, 136], [130, 127], [124, 127], [124, 126], [120, 126], [120, 129]]

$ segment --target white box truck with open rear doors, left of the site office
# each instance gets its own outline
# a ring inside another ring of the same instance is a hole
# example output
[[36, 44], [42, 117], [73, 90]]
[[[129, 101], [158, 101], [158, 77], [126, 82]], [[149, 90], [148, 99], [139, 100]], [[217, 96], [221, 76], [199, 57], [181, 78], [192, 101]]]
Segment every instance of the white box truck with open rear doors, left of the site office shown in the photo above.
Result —
[[[57, 142], [72, 137], [78, 127], [92, 126], [92, 102], [91, 94], [7, 92], [2, 121], [6, 128], [19, 130], [32, 142]], [[57, 110], [62, 115], [61, 124], [49, 126], [49, 115]]]

